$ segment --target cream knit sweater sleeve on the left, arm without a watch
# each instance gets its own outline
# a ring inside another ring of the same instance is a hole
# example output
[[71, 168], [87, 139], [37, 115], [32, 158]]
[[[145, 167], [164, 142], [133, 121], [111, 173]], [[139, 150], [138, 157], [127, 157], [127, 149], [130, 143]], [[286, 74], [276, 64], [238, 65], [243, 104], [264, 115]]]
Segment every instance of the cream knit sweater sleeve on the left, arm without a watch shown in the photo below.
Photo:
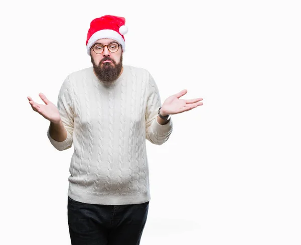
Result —
[[74, 123], [74, 96], [72, 86], [69, 77], [63, 82], [59, 91], [57, 108], [60, 112], [60, 116], [65, 129], [67, 130], [67, 138], [64, 141], [56, 141], [51, 138], [49, 134], [49, 128], [47, 136], [50, 143], [59, 151], [67, 150], [71, 148], [73, 140], [73, 123]]

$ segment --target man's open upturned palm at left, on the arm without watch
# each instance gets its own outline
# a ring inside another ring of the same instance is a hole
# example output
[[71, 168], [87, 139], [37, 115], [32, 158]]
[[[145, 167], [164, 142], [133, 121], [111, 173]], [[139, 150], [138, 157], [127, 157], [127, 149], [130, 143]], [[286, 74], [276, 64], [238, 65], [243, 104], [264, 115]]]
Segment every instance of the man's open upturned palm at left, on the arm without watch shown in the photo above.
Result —
[[27, 97], [29, 103], [31, 104], [34, 111], [38, 112], [42, 116], [44, 116], [47, 120], [50, 120], [54, 124], [59, 124], [61, 121], [61, 116], [58, 108], [54, 103], [46, 98], [43, 93], [39, 93], [39, 96], [44, 101], [45, 104], [38, 104], [31, 97]]

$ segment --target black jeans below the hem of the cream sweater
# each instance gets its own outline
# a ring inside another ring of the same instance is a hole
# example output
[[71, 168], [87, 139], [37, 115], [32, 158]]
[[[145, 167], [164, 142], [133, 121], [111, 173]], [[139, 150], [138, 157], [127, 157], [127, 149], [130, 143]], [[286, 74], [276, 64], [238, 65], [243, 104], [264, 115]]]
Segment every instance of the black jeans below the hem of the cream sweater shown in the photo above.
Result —
[[68, 197], [72, 245], [138, 245], [146, 222], [148, 202], [98, 205]]

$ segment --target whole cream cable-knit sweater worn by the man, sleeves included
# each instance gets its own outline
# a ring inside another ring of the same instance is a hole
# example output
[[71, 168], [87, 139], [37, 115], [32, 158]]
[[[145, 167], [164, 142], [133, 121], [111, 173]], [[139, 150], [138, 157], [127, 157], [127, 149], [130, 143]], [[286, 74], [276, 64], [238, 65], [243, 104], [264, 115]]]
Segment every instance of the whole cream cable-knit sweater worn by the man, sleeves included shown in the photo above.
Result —
[[67, 139], [59, 151], [74, 146], [68, 196], [94, 204], [122, 205], [150, 200], [145, 139], [161, 145], [172, 131], [157, 121], [158, 87], [142, 68], [123, 65], [113, 84], [99, 81], [89, 67], [70, 74], [59, 91], [57, 107]]

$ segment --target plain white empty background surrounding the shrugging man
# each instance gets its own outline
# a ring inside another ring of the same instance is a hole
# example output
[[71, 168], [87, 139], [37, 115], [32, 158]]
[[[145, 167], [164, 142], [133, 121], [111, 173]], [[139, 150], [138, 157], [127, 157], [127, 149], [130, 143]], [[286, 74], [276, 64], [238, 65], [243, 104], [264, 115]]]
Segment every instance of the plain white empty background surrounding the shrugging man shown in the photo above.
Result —
[[92, 19], [126, 18], [124, 64], [146, 68], [164, 100], [204, 105], [147, 142], [148, 217], [141, 243], [301, 244], [299, 1], [12, 1], [0, 7], [1, 244], [70, 244], [73, 147], [49, 121], [68, 74], [91, 66]]

